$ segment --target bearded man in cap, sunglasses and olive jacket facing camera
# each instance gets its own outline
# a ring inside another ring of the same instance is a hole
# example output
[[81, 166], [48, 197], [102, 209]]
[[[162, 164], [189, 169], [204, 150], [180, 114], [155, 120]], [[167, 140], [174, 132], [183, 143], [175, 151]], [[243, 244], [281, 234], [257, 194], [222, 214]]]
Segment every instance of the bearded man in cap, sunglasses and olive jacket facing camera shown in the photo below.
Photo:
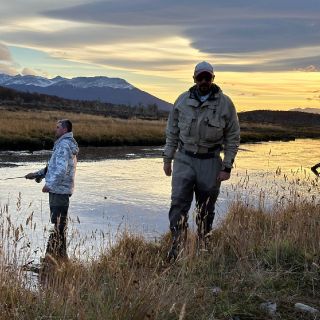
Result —
[[167, 176], [172, 172], [169, 259], [176, 259], [179, 253], [193, 193], [199, 239], [204, 239], [211, 230], [220, 184], [230, 178], [240, 143], [236, 109], [213, 83], [214, 77], [211, 64], [198, 63], [193, 76], [195, 86], [178, 97], [167, 123], [163, 169]]

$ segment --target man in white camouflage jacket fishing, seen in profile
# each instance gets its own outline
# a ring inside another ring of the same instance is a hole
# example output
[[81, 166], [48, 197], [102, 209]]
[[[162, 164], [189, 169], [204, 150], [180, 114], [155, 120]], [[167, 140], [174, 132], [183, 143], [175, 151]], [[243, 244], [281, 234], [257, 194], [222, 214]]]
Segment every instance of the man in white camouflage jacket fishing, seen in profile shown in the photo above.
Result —
[[42, 192], [49, 193], [49, 206], [53, 232], [48, 241], [47, 252], [58, 258], [67, 258], [66, 228], [68, 222], [69, 197], [73, 193], [77, 165], [78, 144], [73, 138], [70, 120], [59, 120], [55, 129], [56, 141], [48, 166], [26, 179], [36, 179], [46, 183]]

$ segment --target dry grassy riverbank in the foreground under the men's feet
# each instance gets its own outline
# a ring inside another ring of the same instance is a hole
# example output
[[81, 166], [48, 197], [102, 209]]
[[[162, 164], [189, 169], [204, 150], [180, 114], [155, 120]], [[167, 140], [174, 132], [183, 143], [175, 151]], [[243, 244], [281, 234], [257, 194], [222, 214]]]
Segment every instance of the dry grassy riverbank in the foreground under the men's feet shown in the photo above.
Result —
[[[2, 234], [14, 244], [17, 230]], [[208, 239], [199, 251], [189, 233], [170, 264], [168, 235], [147, 242], [124, 233], [97, 260], [43, 269], [33, 291], [17, 265], [4, 266], [2, 251], [1, 319], [317, 319], [294, 305], [320, 308], [318, 203], [295, 199], [272, 212], [235, 203]]]

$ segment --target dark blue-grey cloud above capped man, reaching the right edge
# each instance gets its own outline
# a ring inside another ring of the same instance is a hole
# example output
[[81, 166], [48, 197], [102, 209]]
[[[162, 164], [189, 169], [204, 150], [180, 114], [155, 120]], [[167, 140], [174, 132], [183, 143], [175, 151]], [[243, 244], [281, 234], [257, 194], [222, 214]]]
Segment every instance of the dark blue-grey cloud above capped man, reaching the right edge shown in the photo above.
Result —
[[214, 25], [184, 31], [192, 46], [206, 53], [247, 53], [320, 45], [318, 20], [256, 19], [237, 23], [217, 21]]

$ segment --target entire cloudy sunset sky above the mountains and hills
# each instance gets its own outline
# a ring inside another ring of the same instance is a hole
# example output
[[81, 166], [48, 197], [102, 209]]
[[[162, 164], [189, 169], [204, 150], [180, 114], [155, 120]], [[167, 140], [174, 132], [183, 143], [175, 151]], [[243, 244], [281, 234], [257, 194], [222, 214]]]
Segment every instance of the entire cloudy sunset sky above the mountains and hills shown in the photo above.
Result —
[[319, 0], [0, 5], [0, 73], [119, 77], [173, 103], [205, 60], [238, 111], [320, 108]]

